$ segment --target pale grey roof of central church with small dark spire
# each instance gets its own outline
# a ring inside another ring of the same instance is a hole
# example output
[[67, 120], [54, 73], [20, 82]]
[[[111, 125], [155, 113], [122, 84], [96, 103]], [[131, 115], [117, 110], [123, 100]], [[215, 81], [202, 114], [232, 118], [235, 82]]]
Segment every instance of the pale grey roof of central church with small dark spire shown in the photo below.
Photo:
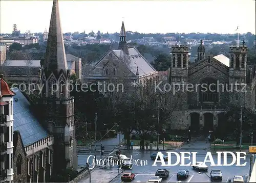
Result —
[[[131, 58], [130, 69], [135, 75], [137, 73], [137, 67], [139, 70], [139, 76], [156, 72], [154, 67], [146, 61], [146, 59], [139, 53], [139, 51], [136, 48], [129, 48], [128, 50]], [[118, 57], [123, 57], [123, 50], [118, 49], [113, 51]]]

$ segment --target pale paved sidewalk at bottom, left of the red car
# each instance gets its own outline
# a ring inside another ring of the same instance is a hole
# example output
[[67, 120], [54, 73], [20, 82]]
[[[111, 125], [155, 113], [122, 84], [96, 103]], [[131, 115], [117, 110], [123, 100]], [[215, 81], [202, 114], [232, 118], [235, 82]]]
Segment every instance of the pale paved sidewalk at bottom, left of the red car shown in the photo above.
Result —
[[[122, 173], [120, 170], [119, 173]], [[104, 169], [103, 167], [96, 167], [91, 171], [91, 182], [110, 182], [118, 176], [118, 169], [117, 167], [108, 167]], [[82, 182], [90, 182], [89, 174], [86, 177], [81, 178], [78, 183]]]

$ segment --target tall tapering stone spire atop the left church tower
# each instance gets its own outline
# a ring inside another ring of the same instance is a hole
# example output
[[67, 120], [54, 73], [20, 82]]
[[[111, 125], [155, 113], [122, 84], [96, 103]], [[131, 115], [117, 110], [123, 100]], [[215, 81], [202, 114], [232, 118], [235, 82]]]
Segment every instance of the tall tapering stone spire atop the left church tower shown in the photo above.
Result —
[[44, 69], [48, 71], [57, 70], [58, 73], [60, 70], [67, 73], [68, 69], [59, 17], [58, 0], [53, 0]]

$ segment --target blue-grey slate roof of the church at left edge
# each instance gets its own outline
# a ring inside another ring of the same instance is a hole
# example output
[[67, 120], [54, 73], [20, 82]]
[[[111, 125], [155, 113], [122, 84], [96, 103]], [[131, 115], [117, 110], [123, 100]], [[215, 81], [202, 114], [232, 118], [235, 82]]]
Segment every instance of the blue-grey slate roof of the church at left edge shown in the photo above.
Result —
[[30, 110], [27, 98], [18, 90], [11, 89], [16, 95], [13, 100], [13, 128], [18, 130], [24, 146], [48, 137], [50, 134], [40, 125], [39, 121]]

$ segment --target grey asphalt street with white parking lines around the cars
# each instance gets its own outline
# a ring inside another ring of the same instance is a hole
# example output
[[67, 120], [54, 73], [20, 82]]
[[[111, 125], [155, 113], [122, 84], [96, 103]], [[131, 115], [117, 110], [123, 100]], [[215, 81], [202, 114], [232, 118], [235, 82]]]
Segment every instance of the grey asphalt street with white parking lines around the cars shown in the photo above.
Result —
[[[184, 151], [184, 150], [182, 150]], [[157, 151], [156, 151], [157, 152]], [[177, 150], [176, 152], [179, 152], [179, 150]], [[155, 172], [157, 171], [157, 169], [161, 169], [161, 168], [165, 168], [167, 170], [169, 170], [169, 177], [164, 180], [163, 182], [211, 182], [210, 178], [208, 176], [210, 176], [210, 171], [213, 169], [218, 169], [221, 170], [223, 173], [223, 182], [226, 182], [228, 178], [231, 178], [234, 175], [242, 175], [246, 178], [246, 176], [248, 176], [248, 172], [249, 172], [249, 156], [247, 156], [246, 160], [241, 160], [241, 163], [243, 162], [247, 162], [247, 165], [244, 167], [236, 167], [235, 165], [233, 166], [215, 166], [215, 167], [210, 167], [209, 163], [206, 163], [206, 165], [209, 167], [208, 172], [199, 172], [196, 170], [193, 170], [191, 168], [191, 166], [172, 166], [172, 167], [162, 167], [160, 165], [160, 163], [158, 163], [157, 166], [152, 166], [154, 161], [150, 159], [150, 154], [153, 153], [153, 151], [141, 151], [141, 152], [136, 152], [136, 151], [125, 151], [123, 152], [123, 154], [127, 155], [127, 156], [131, 156], [132, 155], [132, 159], [133, 160], [147, 160], [147, 165], [146, 166], [140, 166], [140, 165], [135, 165], [132, 169], [132, 172], [135, 173], [137, 176], [135, 177], [135, 179], [133, 180], [133, 182], [145, 182], [147, 181], [151, 176], [155, 175]], [[166, 154], [166, 152], [163, 152], [164, 154]], [[206, 155], [206, 151], [198, 151], [198, 155], [197, 155], [197, 161], [204, 161]], [[176, 162], [176, 156], [172, 156], [172, 163]], [[217, 155], [213, 156], [214, 161], [217, 162]], [[185, 163], [190, 162], [189, 160], [185, 160]], [[227, 163], [231, 163], [231, 157], [228, 156], [228, 160]], [[176, 173], [179, 169], [187, 169], [189, 170], [189, 177], [186, 180], [183, 181], [179, 181], [176, 178]], [[131, 170], [125, 170], [125, 172], [131, 172]], [[112, 180], [111, 182], [121, 182], [120, 179], [121, 175], [116, 177], [114, 180]]]

